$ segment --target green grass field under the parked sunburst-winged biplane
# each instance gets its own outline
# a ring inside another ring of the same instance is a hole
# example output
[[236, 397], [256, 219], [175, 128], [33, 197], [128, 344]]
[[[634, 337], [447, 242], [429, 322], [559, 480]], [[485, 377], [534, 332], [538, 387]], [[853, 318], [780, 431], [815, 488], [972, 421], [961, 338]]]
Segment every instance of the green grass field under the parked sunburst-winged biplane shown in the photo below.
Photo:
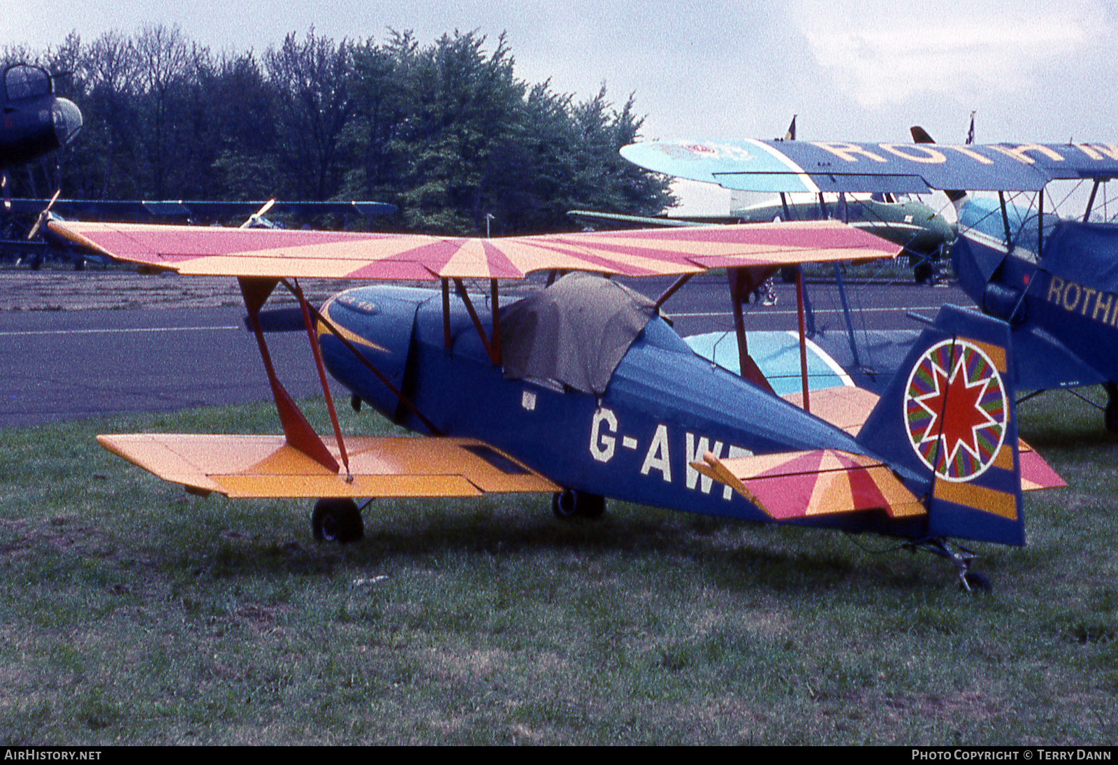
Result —
[[979, 547], [991, 596], [888, 539], [546, 498], [377, 502], [320, 546], [305, 503], [93, 440], [266, 405], [0, 431], [0, 742], [1114, 744], [1118, 440], [1069, 396], [1020, 416], [1069, 487]]

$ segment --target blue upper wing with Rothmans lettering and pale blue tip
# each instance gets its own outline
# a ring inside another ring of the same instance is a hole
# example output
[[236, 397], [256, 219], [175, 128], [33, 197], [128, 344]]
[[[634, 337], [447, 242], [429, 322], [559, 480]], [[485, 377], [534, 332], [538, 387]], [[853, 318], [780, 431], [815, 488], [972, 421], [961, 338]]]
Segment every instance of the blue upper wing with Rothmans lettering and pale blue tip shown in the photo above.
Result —
[[747, 191], [1036, 191], [1059, 178], [1118, 176], [1112, 143], [654, 141], [622, 149], [647, 170]]

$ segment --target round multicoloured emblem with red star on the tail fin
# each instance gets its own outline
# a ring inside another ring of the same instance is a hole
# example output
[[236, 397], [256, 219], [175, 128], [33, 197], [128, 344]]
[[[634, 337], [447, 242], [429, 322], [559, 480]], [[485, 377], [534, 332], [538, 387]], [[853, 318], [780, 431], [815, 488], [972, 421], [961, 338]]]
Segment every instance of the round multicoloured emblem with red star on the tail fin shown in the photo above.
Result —
[[909, 442], [948, 481], [969, 481], [989, 468], [1005, 438], [1007, 410], [997, 369], [966, 340], [932, 346], [909, 376]]

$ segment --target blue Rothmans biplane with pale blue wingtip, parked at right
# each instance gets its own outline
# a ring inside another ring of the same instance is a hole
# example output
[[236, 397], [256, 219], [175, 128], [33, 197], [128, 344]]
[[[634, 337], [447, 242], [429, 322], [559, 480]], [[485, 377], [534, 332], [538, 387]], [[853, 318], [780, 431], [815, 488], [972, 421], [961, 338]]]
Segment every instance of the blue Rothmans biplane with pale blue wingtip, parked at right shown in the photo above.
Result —
[[[1040, 391], [1101, 384], [1107, 427], [1118, 429], [1118, 225], [1091, 220], [1098, 192], [1118, 177], [1118, 145], [949, 145], [931, 143], [918, 128], [912, 133], [916, 144], [678, 141], [632, 144], [622, 154], [731, 189], [946, 191], [958, 212], [955, 272], [985, 313], [1011, 324], [1015, 385]], [[1052, 181], [1090, 183], [1077, 219], [1046, 211]], [[1027, 204], [1013, 201], [1021, 197]]]

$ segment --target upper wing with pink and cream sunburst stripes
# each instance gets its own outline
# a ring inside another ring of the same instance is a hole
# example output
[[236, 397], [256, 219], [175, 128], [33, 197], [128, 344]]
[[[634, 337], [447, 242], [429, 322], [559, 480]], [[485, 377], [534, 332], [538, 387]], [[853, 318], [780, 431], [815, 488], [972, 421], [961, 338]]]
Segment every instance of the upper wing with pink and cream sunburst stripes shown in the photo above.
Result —
[[274, 278], [523, 278], [552, 268], [648, 276], [894, 257], [899, 252], [897, 245], [833, 220], [495, 239], [70, 220], [48, 226], [103, 255], [152, 268]]

